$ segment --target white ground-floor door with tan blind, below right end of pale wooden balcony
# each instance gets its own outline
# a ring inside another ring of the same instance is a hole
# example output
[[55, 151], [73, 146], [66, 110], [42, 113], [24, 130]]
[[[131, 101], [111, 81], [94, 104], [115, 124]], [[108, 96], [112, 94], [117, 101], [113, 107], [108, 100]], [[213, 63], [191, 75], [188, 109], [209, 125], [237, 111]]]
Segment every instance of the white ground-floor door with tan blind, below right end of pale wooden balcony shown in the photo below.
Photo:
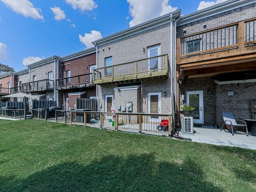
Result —
[[[148, 93], [148, 113], [161, 113], [161, 93]], [[159, 116], [149, 116], [149, 121], [159, 120]]]

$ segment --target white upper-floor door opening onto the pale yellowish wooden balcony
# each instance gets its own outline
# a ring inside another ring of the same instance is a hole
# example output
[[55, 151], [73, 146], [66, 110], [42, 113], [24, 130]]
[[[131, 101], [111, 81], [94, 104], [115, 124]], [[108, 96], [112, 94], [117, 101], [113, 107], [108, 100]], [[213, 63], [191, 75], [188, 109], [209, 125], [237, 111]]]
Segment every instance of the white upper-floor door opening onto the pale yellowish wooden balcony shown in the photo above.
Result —
[[[148, 58], [160, 55], [160, 45], [148, 48]], [[160, 58], [148, 59], [148, 71], [161, 68]]]

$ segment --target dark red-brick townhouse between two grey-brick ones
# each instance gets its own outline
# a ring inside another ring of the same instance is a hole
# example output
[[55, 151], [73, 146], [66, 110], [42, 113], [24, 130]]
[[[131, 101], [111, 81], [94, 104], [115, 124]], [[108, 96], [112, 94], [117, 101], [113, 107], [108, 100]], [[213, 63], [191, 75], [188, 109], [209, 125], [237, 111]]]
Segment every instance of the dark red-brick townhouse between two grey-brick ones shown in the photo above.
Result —
[[66, 110], [76, 109], [76, 98], [96, 98], [92, 70], [96, 68], [96, 48], [89, 48], [61, 58], [56, 90], [59, 105]]

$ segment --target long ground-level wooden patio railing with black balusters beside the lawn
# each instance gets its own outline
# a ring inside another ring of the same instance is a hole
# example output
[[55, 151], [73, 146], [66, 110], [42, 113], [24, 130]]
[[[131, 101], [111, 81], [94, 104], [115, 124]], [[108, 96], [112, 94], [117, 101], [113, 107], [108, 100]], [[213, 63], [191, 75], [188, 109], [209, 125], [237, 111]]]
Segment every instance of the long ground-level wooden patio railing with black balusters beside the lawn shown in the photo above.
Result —
[[[56, 122], [72, 125], [95, 126], [113, 130], [127, 130], [132, 132], [166, 132], [172, 135], [172, 115], [147, 113], [109, 113], [109, 112], [80, 112], [56, 110]], [[169, 126], [158, 127], [161, 122], [168, 122]], [[169, 123], [170, 122], [170, 123]]]

